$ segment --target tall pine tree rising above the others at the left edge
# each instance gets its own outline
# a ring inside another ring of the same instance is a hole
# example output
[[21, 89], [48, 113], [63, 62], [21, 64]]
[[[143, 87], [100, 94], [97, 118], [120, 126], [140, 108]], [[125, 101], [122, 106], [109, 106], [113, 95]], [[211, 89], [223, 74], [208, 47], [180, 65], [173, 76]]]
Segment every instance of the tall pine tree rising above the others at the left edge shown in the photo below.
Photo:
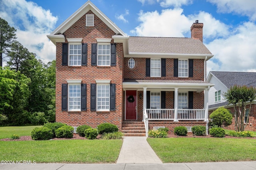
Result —
[[8, 47], [10, 47], [12, 41], [16, 39], [16, 29], [10, 27], [8, 22], [0, 18], [0, 66], [3, 66], [3, 53], [7, 52]]

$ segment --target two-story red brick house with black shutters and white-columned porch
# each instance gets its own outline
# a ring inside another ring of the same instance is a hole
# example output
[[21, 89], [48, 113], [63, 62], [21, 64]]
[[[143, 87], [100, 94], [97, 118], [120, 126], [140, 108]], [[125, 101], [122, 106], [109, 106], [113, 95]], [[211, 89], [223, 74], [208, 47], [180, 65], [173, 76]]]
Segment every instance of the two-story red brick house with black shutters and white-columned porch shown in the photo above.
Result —
[[213, 55], [202, 28], [193, 23], [192, 38], [129, 37], [86, 2], [47, 35], [56, 45], [56, 121], [110, 122], [126, 135], [206, 125]]

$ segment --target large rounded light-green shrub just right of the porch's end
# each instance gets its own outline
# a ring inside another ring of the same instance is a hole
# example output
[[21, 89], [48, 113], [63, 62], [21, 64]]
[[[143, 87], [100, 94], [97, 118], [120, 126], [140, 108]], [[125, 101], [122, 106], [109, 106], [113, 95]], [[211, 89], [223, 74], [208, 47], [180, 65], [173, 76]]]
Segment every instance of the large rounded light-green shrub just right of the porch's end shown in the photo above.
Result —
[[228, 109], [219, 107], [210, 114], [212, 126], [217, 125], [218, 127], [228, 126], [232, 123], [232, 114]]

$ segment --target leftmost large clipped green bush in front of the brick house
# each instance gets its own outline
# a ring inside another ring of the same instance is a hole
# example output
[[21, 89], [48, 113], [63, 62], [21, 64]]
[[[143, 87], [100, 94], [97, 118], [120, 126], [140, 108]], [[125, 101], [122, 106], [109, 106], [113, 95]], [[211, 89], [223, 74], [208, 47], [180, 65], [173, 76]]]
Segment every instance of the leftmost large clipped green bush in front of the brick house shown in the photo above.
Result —
[[53, 133], [48, 127], [36, 127], [32, 130], [31, 137], [34, 140], [49, 140], [53, 138]]

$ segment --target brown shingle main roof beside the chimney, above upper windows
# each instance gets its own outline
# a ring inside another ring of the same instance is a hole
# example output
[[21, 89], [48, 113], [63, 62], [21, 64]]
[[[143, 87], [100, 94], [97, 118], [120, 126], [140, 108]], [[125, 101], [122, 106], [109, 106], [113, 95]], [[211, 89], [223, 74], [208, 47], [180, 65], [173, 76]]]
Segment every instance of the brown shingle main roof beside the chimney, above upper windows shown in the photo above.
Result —
[[199, 39], [170, 37], [129, 37], [129, 52], [212, 55]]

